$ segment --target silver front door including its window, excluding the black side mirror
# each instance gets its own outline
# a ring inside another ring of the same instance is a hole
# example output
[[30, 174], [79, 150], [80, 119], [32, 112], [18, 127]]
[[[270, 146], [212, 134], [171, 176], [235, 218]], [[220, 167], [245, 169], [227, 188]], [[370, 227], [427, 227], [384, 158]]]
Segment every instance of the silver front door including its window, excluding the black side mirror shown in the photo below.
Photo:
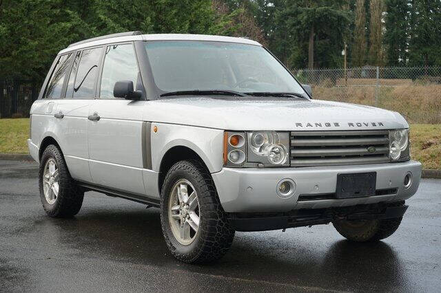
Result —
[[145, 195], [142, 138], [145, 100], [113, 96], [114, 84], [132, 80], [143, 91], [133, 43], [108, 45], [103, 56], [98, 97], [90, 106], [88, 143], [94, 184]]

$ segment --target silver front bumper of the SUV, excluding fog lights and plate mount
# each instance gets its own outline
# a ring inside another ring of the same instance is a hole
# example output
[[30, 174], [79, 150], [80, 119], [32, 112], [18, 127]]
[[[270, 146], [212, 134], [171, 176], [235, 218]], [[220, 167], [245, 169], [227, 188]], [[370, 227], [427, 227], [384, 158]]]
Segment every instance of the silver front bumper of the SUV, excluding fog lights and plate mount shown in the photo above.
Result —
[[[213, 173], [212, 177], [225, 212], [271, 213], [403, 201], [418, 190], [421, 169], [421, 163], [416, 161], [283, 169], [223, 168]], [[377, 173], [378, 194], [349, 199], [332, 198], [336, 192], [338, 174], [365, 172]], [[404, 176], [408, 173], [412, 175], [412, 183], [405, 188]], [[291, 197], [282, 198], [276, 193], [276, 186], [280, 180], [287, 178], [294, 180], [296, 191]]]

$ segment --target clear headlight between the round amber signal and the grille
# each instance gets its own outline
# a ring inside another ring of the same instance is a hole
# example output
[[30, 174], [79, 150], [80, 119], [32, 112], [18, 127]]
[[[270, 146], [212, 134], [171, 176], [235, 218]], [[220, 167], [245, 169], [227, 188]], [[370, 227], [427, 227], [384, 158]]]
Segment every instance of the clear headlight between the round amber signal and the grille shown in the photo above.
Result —
[[248, 132], [248, 162], [264, 165], [289, 164], [289, 133], [276, 131]]

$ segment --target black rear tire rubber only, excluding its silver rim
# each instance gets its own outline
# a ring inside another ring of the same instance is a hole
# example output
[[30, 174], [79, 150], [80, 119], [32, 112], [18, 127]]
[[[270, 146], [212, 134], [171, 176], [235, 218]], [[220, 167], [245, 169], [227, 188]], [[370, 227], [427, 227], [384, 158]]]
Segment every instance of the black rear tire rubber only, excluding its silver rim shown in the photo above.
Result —
[[[43, 174], [45, 165], [48, 160], [54, 160], [57, 164], [58, 176], [59, 176], [59, 191], [57, 198], [53, 204], [50, 204], [45, 197], [43, 190]], [[61, 151], [50, 144], [46, 147], [41, 155], [40, 169], [39, 169], [39, 188], [40, 199], [43, 204], [43, 209], [50, 217], [73, 217], [81, 209], [83, 204], [84, 191], [75, 184], [66, 166], [65, 160]]]

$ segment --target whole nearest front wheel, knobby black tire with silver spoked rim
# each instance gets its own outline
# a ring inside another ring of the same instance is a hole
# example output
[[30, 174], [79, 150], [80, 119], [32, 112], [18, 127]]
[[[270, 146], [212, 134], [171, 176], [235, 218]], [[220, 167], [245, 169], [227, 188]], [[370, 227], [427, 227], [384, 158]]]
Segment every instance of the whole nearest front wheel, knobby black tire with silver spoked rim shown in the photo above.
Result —
[[180, 261], [220, 259], [234, 238], [212, 177], [196, 160], [177, 162], [165, 176], [161, 226], [168, 248]]

